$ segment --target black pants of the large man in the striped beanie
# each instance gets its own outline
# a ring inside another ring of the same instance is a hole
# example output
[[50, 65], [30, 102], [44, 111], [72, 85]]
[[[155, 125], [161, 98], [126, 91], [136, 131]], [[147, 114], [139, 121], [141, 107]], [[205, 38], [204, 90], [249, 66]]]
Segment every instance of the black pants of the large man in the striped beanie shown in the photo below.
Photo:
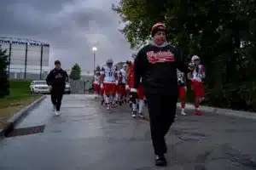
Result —
[[166, 153], [165, 136], [174, 122], [177, 107], [177, 94], [145, 94], [148, 101], [151, 138], [154, 154]]

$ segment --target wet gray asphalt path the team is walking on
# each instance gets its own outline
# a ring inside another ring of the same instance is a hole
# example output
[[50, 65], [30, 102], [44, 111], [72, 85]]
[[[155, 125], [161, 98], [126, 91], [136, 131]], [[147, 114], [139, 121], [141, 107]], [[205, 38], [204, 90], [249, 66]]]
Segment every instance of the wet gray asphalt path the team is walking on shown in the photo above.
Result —
[[47, 97], [18, 127], [44, 133], [0, 140], [1, 170], [251, 170], [256, 169], [255, 120], [205, 113], [177, 116], [166, 137], [168, 167], [154, 167], [147, 121], [127, 106], [110, 111], [91, 95], [65, 95], [61, 116]]

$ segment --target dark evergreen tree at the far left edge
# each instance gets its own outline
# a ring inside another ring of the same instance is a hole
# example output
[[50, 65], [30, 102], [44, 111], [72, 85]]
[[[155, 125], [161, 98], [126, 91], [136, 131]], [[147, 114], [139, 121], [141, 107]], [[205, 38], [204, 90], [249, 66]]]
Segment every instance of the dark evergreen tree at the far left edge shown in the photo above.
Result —
[[0, 46], [0, 98], [9, 95], [9, 79], [7, 75], [7, 67], [9, 65], [6, 50]]

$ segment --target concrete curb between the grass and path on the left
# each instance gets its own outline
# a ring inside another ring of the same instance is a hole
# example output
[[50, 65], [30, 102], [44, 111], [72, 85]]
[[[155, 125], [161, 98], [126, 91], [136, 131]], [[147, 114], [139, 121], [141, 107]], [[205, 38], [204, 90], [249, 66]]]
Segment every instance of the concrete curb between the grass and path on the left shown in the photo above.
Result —
[[39, 105], [45, 97], [46, 95], [43, 95], [41, 98], [36, 99], [34, 102], [32, 102], [32, 104], [27, 105], [26, 107], [15, 113], [15, 115], [7, 121], [7, 125], [3, 129], [0, 129], [0, 137], [7, 136], [14, 129], [15, 125], [20, 122], [22, 118], [27, 116], [29, 111], [32, 111], [37, 105]]

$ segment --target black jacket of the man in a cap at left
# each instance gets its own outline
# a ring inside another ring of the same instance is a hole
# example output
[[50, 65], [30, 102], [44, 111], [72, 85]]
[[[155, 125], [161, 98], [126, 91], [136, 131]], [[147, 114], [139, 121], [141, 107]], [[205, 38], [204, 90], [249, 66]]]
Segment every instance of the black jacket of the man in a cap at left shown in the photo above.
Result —
[[46, 82], [48, 86], [50, 85], [52, 86], [52, 88], [64, 89], [66, 86], [66, 82], [68, 82], [67, 72], [63, 71], [62, 69], [54, 69], [49, 72], [49, 75], [46, 78]]

